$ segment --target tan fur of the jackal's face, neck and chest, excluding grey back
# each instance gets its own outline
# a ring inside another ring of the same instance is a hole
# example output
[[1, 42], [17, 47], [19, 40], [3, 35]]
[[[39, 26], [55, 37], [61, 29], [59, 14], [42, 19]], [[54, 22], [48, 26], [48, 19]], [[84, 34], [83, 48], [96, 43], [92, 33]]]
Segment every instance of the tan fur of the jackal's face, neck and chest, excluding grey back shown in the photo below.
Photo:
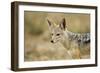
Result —
[[61, 23], [55, 26], [55, 23], [52, 23], [49, 20], [48, 22], [51, 31], [52, 43], [60, 42], [64, 46], [64, 48], [66, 48], [67, 53], [72, 59], [80, 59], [81, 58], [80, 48], [76, 42], [70, 41], [67, 38], [67, 33], [66, 33], [67, 30], [66, 28], [63, 28], [64, 24]]

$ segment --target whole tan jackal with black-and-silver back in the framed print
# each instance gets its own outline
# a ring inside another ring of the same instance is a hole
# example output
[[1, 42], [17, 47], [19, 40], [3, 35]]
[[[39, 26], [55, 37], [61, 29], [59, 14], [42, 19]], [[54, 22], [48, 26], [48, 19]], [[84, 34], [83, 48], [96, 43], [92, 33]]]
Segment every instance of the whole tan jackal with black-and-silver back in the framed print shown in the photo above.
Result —
[[56, 25], [49, 19], [47, 21], [51, 32], [51, 43], [60, 42], [67, 49], [67, 53], [72, 59], [81, 58], [80, 50], [82, 46], [90, 43], [90, 33], [75, 33], [69, 31], [65, 18], [59, 25]]

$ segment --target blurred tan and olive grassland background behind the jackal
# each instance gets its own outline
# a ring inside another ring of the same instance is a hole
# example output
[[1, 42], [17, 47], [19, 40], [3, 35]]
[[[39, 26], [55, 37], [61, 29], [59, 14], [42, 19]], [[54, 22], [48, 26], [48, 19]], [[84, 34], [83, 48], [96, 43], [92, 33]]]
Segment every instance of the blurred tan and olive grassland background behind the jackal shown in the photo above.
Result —
[[[47, 18], [59, 24], [66, 19], [69, 31], [90, 32], [90, 15], [76, 13], [24, 12], [24, 61], [46, 61], [71, 59], [62, 44], [50, 42]], [[90, 45], [82, 51], [83, 59], [90, 58]], [[77, 59], [77, 57], [74, 57]]]

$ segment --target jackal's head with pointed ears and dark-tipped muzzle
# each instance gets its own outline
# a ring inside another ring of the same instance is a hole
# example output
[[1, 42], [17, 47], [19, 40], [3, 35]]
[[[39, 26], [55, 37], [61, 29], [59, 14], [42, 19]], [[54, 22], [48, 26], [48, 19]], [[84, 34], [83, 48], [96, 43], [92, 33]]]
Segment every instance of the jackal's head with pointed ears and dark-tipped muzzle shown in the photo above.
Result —
[[64, 40], [64, 31], [66, 28], [66, 21], [65, 18], [62, 19], [60, 24], [55, 24], [51, 22], [49, 19], [47, 19], [48, 25], [50, 28], [50, 33], [51, 33], [51, 43], [56, 43], [59, 41]]

